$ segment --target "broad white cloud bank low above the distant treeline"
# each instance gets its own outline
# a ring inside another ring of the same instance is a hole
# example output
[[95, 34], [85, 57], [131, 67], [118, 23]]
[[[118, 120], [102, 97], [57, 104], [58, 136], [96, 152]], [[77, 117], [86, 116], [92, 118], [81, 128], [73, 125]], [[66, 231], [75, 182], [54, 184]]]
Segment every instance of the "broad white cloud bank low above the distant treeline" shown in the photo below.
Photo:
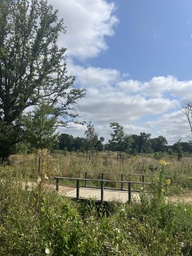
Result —
[[[99, 136], [108, 139], [109, 123], [117, 121], [127, 133], [145, 131], [152, 133], [152, 137], [163, 135], [169, 143], [179, 138], [187, 140], [187, 124], [177, 118], [180, 116], [177, 109], [179, 99], [189, 94], [192, 81], [178, 81], [173, 76], [154, 77], [148, 82], [124, 81], [117, 70], [73, 63], [69, 66], [76, 74], [76, 83], [87, 89], [87, 97], [78, 104], [78, 112], [85, 121], [95, 124]], [[171, 111], [174, 113], [170, 114]]]

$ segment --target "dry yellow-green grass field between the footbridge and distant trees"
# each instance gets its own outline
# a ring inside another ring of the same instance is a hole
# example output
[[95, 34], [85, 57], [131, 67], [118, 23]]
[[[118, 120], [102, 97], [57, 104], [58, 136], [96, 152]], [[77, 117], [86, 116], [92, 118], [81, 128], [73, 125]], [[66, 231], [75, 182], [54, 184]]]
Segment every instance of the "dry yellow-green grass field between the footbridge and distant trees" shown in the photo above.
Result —
[[[174, 157], [165, 155], [164, 160], [170, 162], [166, 168], [167, 175], [171, 176], [171, 186], [169, 193], [180, 194], [192, 190], [192, 158], [183, 157], [177, 161]], [[67, 152], [66, 154], [55, 154], [49, 159], [47, 166], [47, 176], [49, 182], [52, 176], [63, 176], [69, 178], [88, 178], [100, 179], [97, 173], [125, 173], [125, 174], [153, 174], [159, 175], [159, 159], [154, 159], [152, 155], [124, 155], [124, 163], [117, 162], [115, 152], [101, 152], [93, 154], [91, 161], [87, 161], [86, 153]], [[13, 155], [11, 157], [11, 168], [27, 174], [30, 180], [36, 181], [39, 173], [39, 156], [36, 155]], [[50, 170], [49, 170], [50, 169]], [[151, 171], [153, 169], [153, 171]], [[49, 174], [49, 171], [51, 173]], [[121, 180], [120, 175], [105, 174], [105, 180]], [[141, 181], [138, 176], [127, 176], [125, 180]], [[151, 182], [152, 177], [145, 178], [145, 182]], [[68, 185], [68, 181], [63, 182]], [[75, 185], [75, 183], [71, 183]], [[90, 184], [92, 185], [92, 184]], [[116, 185], [117, 186], [117, 185]]]

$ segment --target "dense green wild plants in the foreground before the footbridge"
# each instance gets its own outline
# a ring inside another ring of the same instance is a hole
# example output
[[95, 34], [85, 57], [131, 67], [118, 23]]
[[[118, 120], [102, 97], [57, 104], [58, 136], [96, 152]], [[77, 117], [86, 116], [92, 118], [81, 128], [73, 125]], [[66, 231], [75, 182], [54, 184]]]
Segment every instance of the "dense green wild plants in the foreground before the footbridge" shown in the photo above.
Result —
[[140, 203], [105, 211], [42, 184], [28, 191], [23, 174], [0, 168], [0, 255], [191, 255], [192, 206], [162, 190], [159, 179]]

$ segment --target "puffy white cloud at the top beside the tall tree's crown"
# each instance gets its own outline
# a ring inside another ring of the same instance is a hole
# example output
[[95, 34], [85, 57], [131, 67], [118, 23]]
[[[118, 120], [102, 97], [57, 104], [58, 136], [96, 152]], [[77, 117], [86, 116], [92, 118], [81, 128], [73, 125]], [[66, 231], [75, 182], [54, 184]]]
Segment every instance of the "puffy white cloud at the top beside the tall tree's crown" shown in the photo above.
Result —
[[114, 35], [118, 20], [113, 14], [114, 3], [105, 0], [49, 0], [64, 18], [67, 35], [61, 44], [68, 47], [68, 55], [78, 59], [98, 56], [107, 49], [106, 36]]

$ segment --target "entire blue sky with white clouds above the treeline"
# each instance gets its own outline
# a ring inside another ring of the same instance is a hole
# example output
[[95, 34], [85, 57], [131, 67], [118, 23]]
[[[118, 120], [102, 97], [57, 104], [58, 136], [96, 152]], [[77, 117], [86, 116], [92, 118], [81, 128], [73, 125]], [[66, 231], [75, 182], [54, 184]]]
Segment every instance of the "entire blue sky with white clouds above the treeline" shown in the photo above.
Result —
[[[64, 18], [68, 70], [87, 96], [81, 120], [107, 140], [109, 123], [126, 133], [188, 140], [181, 101], [192, 88], [191, 0], [49, 0]], [[83, 137], [86, 126], [60, 132]]]

